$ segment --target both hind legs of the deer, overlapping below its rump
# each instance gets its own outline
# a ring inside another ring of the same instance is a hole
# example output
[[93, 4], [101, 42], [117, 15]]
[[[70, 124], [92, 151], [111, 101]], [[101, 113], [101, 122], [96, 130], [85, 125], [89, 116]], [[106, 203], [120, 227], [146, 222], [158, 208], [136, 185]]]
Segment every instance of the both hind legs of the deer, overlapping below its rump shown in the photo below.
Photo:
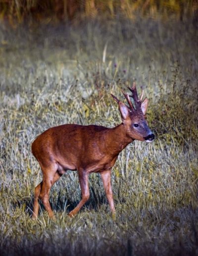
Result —
[[62, 176], [57, 170], [57, 165], [52, 164], [48, 167], [41, 167], [43, 171], [43, 181], [35, 188], [35, 199], [32, 219], [37, 218], [39, 214], [39, 197], [49, 214], [49, 217], [53, 217], [53, 212], [49, 204], [49, 192], [53, 184]]

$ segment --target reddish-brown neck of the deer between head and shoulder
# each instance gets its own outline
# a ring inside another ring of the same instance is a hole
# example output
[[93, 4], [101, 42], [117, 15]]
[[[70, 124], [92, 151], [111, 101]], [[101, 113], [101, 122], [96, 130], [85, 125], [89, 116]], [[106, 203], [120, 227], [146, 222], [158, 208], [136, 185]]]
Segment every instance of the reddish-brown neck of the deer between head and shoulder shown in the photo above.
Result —
[[123, 124], [110, 128], [106, 136], [106, 144], [110, 154], [118, 155], [134, 139], [127, 136]]

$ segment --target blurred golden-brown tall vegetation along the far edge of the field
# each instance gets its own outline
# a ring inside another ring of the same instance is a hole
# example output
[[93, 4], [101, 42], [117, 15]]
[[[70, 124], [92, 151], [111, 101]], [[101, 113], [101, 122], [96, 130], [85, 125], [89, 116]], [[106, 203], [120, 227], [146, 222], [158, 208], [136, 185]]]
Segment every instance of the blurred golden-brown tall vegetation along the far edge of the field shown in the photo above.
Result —
[[[85, 17], [109, 18], [136, 16], [186, 19], [198, 16], [196, 0], [0, 0], [0, 18], [13, 27], [18, 23], [32, 23], [35, 19], [45, 23], [73, 20], [75, 23]], [[159, 15], [160, 14], [160, 15]], [[78, 17], [78, 18], [76, 18]], [[17, 21], [17, 22], [16, 22]]]

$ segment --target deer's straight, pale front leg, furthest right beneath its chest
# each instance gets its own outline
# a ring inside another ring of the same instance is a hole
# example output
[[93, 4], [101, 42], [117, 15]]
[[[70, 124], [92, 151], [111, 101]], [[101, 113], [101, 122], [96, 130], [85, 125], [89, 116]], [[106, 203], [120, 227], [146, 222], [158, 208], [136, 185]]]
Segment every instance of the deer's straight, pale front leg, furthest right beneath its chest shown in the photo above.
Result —
[[102, 182], [103, 182], [103, 185], [104, 185], [104, 190], [105, 190], [105, 193], [106, 193], [106, 197], [107, 197], [109, 205], [110, 205], [110, 209], [111, 209], [112, 213], [115, 213], [115, 206], [114, 206], [114, 201], [113, 201], [113, 192], [112, 192], [112, 189], [111, 189], [111, 169], [101, 172], [100, 175], [101, 175]]

